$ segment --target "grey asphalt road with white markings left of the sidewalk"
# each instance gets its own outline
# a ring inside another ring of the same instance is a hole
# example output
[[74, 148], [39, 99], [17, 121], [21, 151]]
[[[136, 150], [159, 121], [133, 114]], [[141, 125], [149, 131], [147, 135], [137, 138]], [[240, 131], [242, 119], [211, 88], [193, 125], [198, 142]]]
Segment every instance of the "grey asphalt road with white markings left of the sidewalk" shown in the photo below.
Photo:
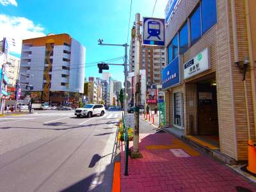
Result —
[[0, 118], [0, 191], [111, 191], [121, 111]]

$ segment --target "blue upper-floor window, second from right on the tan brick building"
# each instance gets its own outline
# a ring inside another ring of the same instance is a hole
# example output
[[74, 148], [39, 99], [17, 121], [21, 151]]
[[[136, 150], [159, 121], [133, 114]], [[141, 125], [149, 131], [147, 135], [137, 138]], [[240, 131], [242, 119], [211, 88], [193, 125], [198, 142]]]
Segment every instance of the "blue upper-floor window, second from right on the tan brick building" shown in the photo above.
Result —
[[198, 6], [195, 12], [190, 17], [190, 36], [191, 45], [201, 37], [201, 16], [200, 16], [200, 6]]

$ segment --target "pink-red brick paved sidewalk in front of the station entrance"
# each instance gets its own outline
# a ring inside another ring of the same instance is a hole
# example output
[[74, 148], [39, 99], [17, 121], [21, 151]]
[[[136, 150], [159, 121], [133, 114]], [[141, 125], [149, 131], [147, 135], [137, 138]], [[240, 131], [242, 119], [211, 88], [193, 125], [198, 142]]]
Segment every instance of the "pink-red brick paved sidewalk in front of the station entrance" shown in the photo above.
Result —
[[[121, 191], [256, 191], [256, 186], [225, 164], [211, 157], [176, 157], [170, 149], [150, 149], [147, 145], [172, 145], [169, 133], [140, 134], [142, 159], [129, 158], [129, 176], [124, 176], [124, 150], [121, 152]], [[130, 141], [130, 148], [132, 141]], [[122, 145], [124, 149], [124, 145]]]

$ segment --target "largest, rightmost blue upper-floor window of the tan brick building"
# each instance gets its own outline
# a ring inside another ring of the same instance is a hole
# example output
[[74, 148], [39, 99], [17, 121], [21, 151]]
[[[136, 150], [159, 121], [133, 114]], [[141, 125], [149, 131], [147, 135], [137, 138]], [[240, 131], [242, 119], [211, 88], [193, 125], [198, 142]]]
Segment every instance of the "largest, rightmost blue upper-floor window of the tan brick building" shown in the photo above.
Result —
[[208, 31], [217, 22], [216, 0], [202, 0], [202, 31]]

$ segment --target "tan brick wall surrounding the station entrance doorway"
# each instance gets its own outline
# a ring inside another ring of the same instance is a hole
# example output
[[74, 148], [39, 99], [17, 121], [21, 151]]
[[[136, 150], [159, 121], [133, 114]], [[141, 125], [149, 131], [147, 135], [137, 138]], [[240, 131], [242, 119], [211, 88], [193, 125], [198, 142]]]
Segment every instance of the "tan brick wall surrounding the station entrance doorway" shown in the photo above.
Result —
[[[198, 2], [198, 0], [180, 1], [168, 28], [166, 28], [166, 45], [170, 43], [175, 33], [184, 24]], [[243, 61], [244, 57], [248, 56], [245, 6], [244, 1], [235, 0], [234, 2], [236, 5], [238, 58], [239, 61]], [[189, 47], [188, 51], [183, 55], [183, 63], [185, 63], [198, 54], [198, 52], [204, 50], [205, 47], [209, 47], [211, 58], [211, 68], [209, 70], [184, 81], [185, 134], [190, 134], [191, 132], [189, 129], [190, 115], [193, 115], [193, 131], [196, 131], [197, 127], [195, 82], [198, 81], [200, 77], [213, 75], [216, 77], [217, 81], [218, 124], [221, 152], [236, 160], [246, 160], [246, 141], [248, 139], [246, 129], [246, 106], [244, 102], [243, 76], [236, 65], [234, 65], [234, 42], [230, 0], [218, 0], [217, 10], [217, 23], [209, 29], [200, 40]], [[251, 132], [253, 132], [252, 90], [249, 72], [246, 74], [246, 86], [248, 108], [250, 111], [250, 127]], [[168, 93], [165, 94], [166, 105], [168, 105], [169, 102], [167, 99], [170, 99]], [[166, 120], [168, 115], [166, 114]]]

